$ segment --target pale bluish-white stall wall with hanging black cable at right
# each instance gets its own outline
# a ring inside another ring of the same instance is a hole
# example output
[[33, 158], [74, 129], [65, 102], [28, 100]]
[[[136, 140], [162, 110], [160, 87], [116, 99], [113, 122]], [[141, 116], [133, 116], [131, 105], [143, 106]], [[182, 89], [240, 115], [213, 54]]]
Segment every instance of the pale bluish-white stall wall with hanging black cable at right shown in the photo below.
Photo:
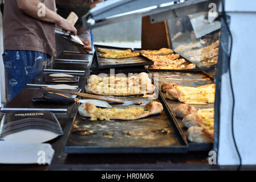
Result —
[[[225, 10], [230, 16], [230, 30], [233, 36], [233, 49], [231, 53], [231, 78], [234, 89], [234, 138], [241, 154], [243, 165], [256, 164], [254, 157], [255, 141], [255, 28], [256, 28], [256, 2], [226, 0]], [[227, 35], [226, 32], [222, 31]], [[225, 52], [228, 42], [222, 36], [222, 60], [219, 60], [216, 77], [217, 94], [220, 94], [220, 125], [218, 134], [218, 164], [237, 165], [239, 157], [235, 149], [231, 132], [233, 98], [231, 94], [228, 59]], [[227, 35], [228, 36], [228, 35]]]

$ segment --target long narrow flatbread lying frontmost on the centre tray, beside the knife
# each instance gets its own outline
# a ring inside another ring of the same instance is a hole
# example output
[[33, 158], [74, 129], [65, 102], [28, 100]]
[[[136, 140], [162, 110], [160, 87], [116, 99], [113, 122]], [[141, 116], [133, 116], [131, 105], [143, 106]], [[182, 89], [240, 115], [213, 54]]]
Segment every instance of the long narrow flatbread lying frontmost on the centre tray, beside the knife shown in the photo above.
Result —
[[152, 101], [144, 107], [128, 107], [127, 109], [101, 109], [88, 102], [78, 107], [78, 113], [84, 117], [91, 117], [92, 121], [97, 119], [109, 121], [110, 119], [133, 120], [159, 114], [163, 110], [160, 102]]

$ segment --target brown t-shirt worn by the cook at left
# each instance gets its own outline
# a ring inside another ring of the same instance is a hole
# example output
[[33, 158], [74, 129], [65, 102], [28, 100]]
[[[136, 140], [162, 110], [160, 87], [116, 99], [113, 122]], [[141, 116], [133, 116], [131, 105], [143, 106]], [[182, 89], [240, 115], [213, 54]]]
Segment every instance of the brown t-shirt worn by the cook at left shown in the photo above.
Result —
[[[54, 0], [40, 0], [56, 11]], [[39, 10], [39, 8], [38, 8]], [[55, 24], [36, 19], [18, 8], [17, 0], [5, 1], [3, 44], [5, 50], [27, 50], [56, 56]]]

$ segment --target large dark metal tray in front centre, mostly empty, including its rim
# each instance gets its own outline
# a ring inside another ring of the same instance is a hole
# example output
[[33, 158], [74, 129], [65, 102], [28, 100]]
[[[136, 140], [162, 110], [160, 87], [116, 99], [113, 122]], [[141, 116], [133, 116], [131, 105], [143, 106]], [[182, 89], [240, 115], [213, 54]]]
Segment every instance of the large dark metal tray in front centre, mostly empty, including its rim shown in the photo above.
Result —
[[[127, 72], [123, 71], [123, 73], [127, 75]], [[99, 74], [99, 72], [91, 74]], [[143, 102], [138, 107], [143, 107], [152, 101], [142, 96], [115, 98], [125, 101], [124, 104], [109, 103], [117, 108], [135, 106], [134, 104], [138, 101]], [[159, 97], [157, 101], [162, 102], [162, 97]], [[164, 111], [160, 114], [131, 121], [117, 119], [90, 121], [90, 118], [77, 114], [74, 123], [81, 129], [92, 130], [96, 134], [82, 136], [79, 133], [72, 133], [71, 130], [64, 152], [69, 154], [188, 152], [188, 143], [182, 137], [179, 127], [172, 122], [170, 114], [167, 113], [168, 108], [164, 104], [163, 106]], [[131, 135], [127, 134], [128, 131]]]

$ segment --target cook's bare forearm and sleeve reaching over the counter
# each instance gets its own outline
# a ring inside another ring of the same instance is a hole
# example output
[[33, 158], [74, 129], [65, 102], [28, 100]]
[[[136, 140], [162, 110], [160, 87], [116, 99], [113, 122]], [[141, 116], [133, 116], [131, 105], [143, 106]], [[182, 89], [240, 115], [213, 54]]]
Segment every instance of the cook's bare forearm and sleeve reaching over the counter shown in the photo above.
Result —
[[39, 0], [17, 0], [19, 9], [26, 14], [44, 22], [56, 23], [60, 28], [63, 28], [63, 30], [70, 31], [71, 35], [76, 35], [76, 28], [70, 22], [47, 7], [45, 7], [46, 16], [39, 16], [39, 3], [41, 3]]

